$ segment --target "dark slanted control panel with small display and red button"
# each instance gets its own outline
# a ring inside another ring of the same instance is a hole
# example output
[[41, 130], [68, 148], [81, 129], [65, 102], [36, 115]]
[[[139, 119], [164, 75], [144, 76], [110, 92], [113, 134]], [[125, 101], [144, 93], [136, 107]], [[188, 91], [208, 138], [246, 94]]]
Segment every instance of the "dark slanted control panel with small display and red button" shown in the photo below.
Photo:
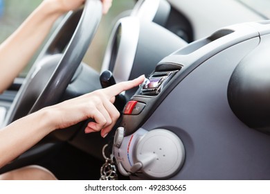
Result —
[[142, 123], [154, 112], [165, 90], [170, 87], [183, 66], [179, 64], [158, 64], [140, 85], [138, 91], [123, 109], [120, 127], [125, 127], [125, 134], [129, 135], [138, 130]]

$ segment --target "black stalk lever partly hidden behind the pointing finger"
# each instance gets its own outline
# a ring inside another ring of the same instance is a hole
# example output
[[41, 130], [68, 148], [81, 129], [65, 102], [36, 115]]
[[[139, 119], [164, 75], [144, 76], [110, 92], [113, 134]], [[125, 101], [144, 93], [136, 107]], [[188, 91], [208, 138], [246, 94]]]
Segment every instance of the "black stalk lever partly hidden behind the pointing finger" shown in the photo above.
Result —
[[[100, 75], [100, 84], [102, 88], [110, 87], [111, 85], [116, 84], [116, 80], [114, 79], [113, 74], [111, 71], [103, 71]], [[127, 99], [123, 94], [118, 94], [116, 96], [116, 100], [114, 101], [114, 105], [118, 109], [119, 112], [123, 111], [125, 104], [127, 103]]]

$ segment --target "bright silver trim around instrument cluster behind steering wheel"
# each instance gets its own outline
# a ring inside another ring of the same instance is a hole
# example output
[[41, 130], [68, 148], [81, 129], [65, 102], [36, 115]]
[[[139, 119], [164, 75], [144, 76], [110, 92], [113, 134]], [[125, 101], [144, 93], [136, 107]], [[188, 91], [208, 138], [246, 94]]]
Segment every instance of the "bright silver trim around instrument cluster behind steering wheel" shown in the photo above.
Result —
[[118, 26], [121, 25], [122, 34], [112, 73], [114, 74], [116, 82], [129, 80], [136, 55], [138, 36], [140, 33], [140, 21], [152, 21], [159, 9], [160, 1], [161, 0], [139, 0], [132, 10], [130, 17], [124, 17], [118, 20], [109, 38], [101, 72], [109, 69], [116, 32]]

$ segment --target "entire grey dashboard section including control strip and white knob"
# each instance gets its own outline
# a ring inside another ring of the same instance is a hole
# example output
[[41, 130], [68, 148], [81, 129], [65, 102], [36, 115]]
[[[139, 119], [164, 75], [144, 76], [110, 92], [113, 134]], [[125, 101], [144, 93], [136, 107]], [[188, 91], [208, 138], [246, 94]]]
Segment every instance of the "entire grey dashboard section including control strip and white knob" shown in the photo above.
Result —
[[[264, 149], [270, 136], [235, 111], [239, 106], [233, 103], [242, 98], [231, 98], [240, 83], [269, 85], [260, 76], [260, 69], [269, 67], [268, 58], [260, 57], [267, 53], [269, 24], [228, 26], [157, 64], [125, 105], [114, 136], [121, 174], [131, 179], [270, 178], [270, 155]], [[252, 95], [244, 98], [253, 100]]]

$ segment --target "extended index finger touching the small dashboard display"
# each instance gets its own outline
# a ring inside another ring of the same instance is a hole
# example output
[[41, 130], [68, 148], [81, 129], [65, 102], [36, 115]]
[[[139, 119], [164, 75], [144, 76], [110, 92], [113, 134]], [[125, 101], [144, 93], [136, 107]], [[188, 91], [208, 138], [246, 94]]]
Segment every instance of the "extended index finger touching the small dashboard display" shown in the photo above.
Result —
[[145, 76], [143, 75], [143, 76], [140, 76], [134, 80], [120, 82], [116, 85], [112, 85], [110, 87], [107, 87], [104, 89], [104, 92], [110, 99], [110, 98], [120, 94], [122, 91], [132, 89], [133, 87], [141, 85], [141, 83], [143, 83], [144, 80], [145, 80]]

